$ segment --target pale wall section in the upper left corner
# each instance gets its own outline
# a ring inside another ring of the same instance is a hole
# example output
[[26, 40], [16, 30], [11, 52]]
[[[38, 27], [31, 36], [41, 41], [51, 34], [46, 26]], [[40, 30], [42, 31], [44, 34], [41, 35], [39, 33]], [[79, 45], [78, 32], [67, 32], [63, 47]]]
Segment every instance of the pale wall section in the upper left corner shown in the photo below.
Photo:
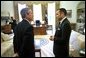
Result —
[[1, 16], [14, 17], [13, 1], [1, 1]]

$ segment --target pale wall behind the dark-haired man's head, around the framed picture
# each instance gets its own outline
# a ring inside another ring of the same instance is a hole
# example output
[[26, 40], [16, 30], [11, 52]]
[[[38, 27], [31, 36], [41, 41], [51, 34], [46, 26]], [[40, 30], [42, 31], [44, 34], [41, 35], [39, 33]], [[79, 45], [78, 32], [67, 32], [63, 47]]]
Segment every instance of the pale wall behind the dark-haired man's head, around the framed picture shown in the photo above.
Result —
[[68, 18], [71, 23], [76, 23], [77, 21], [77, 5], [79, 2], [80, 1], [60, 1], [60, 8], [72, 10], [72, 17]]

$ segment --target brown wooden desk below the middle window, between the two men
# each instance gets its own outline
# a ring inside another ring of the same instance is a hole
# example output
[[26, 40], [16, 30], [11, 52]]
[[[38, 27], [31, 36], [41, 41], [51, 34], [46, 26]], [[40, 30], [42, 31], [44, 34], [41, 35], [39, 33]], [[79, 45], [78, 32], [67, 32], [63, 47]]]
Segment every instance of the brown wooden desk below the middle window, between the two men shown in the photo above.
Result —
[[34, 35], [46, 35], [46, 27], [45, 26], [34, 27]]

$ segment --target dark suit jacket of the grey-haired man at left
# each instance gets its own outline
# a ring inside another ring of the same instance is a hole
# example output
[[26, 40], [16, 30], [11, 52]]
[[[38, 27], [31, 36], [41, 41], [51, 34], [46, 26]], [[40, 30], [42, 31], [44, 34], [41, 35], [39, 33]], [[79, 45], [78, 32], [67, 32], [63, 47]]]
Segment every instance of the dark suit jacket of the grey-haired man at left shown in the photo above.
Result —
[[13, 44], [20, 57], [35, 57], [33, 27], [28, 21], [22, 20], [15, 27]]

